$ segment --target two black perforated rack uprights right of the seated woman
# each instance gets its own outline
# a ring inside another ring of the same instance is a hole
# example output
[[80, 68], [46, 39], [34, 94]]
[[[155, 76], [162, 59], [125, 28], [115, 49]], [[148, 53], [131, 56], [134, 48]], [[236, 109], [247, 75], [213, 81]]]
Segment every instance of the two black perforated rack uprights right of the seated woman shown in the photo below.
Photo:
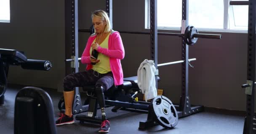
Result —
[[[188, 3], [187, 0], [182, 0], [182, 20], [185, 23], [184, 28], [188, 26]], [[155, 61], [157, 69], [157, 0], [150, 0], [150, 44], [151, 44], [151, 58]], [[161, 34], [161, 33], [160, 33]], [[179, 36], [182, 34], [173, 34]], [[193, 113], [203, 111], [203, 106], [191, 106], [188, 94], [188, 65], [189, 65], [189, 46], [185, 42], [185, 36], [182, 37], [182, 52], [181, 58], [184, 62], [181, 65], [181, 98], [180, 105], [175, 106], [179, 118], [189, 116]], [[157, 79], [156, 79], [157, 80]], [[157, 83], [157, 81], [156, 81]], [[157, 87], [157, 85], [156, 85]], [[140, 121], [139, 129], [146, 129], [157, 125], [154, 121], [152, 114], [149, 112], [147, 121]]]

